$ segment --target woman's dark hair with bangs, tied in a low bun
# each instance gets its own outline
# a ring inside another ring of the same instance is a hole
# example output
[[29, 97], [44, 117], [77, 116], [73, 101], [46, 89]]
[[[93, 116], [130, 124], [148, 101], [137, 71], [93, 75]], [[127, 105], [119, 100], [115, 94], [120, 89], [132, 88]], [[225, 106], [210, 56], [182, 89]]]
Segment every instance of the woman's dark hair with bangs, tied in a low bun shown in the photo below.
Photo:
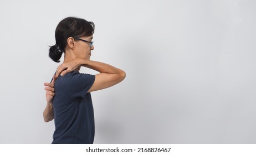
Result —
[[59, 22], [55, 30], [56, 44], [50, 46], [49, 57], [59, 63], [62, 53], [65, 52], [67, 39], [69, 37], [88, 37], [94, 34], [95, 25], [85, 19], [76, 17], [66, 17]]

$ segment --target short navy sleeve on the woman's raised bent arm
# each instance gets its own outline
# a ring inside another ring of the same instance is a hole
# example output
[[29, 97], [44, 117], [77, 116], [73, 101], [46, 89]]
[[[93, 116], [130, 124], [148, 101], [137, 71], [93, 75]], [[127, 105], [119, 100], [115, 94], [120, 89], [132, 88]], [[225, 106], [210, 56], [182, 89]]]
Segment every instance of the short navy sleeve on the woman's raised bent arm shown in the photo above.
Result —
[[65, 89], [73, 97], [84, 97], [93, 85], [94, 80], [95, 75], [82, 74], [78, 71], [74, 71], [74, 73], [65, 80]]

